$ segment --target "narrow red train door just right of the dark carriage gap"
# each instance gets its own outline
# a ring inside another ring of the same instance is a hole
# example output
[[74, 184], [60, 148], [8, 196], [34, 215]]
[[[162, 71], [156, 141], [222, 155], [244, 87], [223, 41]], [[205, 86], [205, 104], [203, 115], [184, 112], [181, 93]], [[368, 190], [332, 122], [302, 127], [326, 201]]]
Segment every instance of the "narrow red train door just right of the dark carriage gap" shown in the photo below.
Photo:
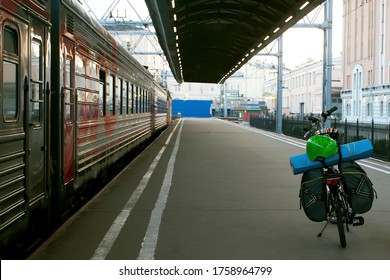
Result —
[[75, 159], [74, 159], [74, 122], [75, 122], [75, 91], [74, 91], [74, 42], [64, 38], [64, 66], [63, 66], [63, 112], [64, 112], [64, 184], [68, 184], [74, 179]]

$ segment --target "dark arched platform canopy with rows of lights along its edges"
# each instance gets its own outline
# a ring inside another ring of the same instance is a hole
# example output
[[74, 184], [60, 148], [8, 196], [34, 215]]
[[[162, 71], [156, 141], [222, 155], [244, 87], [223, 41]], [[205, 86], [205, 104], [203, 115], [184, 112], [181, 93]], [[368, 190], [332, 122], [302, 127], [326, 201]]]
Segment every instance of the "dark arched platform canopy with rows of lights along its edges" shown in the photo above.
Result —
[[222, 83], [324, 0], [145, 0], [177, 82]]

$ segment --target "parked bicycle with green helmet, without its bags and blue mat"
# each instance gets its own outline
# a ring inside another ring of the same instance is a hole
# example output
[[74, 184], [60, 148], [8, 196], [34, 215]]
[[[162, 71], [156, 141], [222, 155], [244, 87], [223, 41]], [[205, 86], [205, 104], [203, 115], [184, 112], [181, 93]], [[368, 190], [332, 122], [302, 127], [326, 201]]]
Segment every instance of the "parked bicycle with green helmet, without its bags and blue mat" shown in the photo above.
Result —
[[[322, 228], [318, 237], [321, 237], [329, 222], [337, 224], [340, 245], [345, 248], [347, 245], [345, 229], [349, 231], [349, 225], [363, 225], [363, 217], [355, 216], [349, 203], [348, 193], [342, 183], [340, 173], [340, 163], [329, 165], [326, 158], [339, 153], [341, 159], [340, 144], [337, 143], [338, 131], [335, 128], [326, 128], [326, 120], [337, 107], [322, 112], [320, 118], [310, 116], [309, 125], [304, 129], [306, 131], [304, 138], [306, 142], [306, 154], [310, 160], [321, 162], [322, 165], [322, 187], [324, 188], [324, 201], [326, 212], [326, 224]], [[345, 227], [344, 227], [345, 226]]]

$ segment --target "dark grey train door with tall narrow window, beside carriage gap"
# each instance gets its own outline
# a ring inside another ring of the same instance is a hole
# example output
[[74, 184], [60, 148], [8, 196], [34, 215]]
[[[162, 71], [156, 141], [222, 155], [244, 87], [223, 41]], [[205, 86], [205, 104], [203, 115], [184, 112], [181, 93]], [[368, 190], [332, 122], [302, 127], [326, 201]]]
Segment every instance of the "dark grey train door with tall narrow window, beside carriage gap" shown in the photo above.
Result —
[[[49, 27], [34, 17], [30, 21], [29, 77], [25, 77], [27, 197], [32, 238], [44, 230], [47, 214]], [[44, 214], [46, 213], [46, 214]]]

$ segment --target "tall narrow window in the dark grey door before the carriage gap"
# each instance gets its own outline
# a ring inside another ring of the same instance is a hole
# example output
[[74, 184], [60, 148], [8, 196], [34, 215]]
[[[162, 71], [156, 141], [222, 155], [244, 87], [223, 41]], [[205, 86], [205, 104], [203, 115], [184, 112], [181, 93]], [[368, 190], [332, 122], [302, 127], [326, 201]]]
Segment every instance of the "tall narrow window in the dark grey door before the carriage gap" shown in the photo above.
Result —
[[42, 81], [42, 43], [31, 43], [31, 86], [30, 86], [30, 123], [38, 125], [42, 119], [43, 81]]

